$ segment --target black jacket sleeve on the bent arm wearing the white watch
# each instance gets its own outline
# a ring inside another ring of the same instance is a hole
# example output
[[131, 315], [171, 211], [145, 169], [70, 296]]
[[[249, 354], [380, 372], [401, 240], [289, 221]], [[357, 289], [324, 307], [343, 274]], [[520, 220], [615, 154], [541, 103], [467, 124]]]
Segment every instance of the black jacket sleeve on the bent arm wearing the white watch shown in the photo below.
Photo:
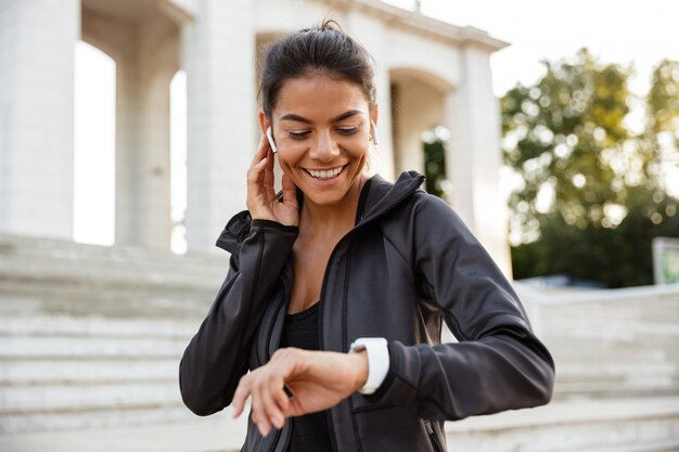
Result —
[[413, 221], [420, 292], [460, 343], [389, 341], [389, 372], [369, 400], [435, 419], [547, 403], [554, 363], [490, 256], [443, 201], [427, 195]]

